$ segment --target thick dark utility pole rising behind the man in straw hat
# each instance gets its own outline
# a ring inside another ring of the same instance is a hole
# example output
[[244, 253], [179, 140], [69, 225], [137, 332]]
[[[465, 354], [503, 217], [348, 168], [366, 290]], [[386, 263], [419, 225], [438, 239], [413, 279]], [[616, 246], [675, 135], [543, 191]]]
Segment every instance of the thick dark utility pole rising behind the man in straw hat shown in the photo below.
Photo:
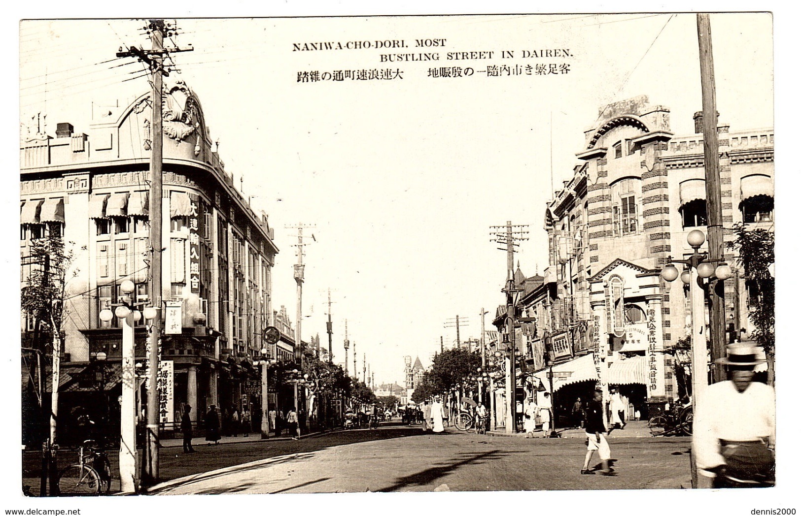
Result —
[[[710, 262], [723, 262], [723, 205], [720, 199], [720, 169], [718, 166], [718, 110], [714, 92], [714, 63], [712, 62], [712, 31], [709, 14], [698, 13], [698, 54], [701, 61], [701, 102], [703, 109], [704, 177], [706, 178], [706, 237]], [[723, 280], [710, 285], [710, 355], [712, 363], [726, 357], [726, 303]], [[738, 328], [739, 331], [739, 328]], [[713, 370], [714, 382], [726, 380], [724, 367]]]

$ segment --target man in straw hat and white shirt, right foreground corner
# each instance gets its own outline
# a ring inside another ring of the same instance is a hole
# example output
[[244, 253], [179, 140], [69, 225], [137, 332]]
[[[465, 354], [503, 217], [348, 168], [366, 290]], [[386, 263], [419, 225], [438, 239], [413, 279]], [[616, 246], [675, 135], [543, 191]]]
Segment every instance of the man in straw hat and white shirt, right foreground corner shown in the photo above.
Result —
[[[773, 481], [776, 431], [775, 393], [751, 382], [756, 358], [750, 344], [728, 346], [729, 380], [709, 386], [694, 415], [693, 450], [700, 474], [713, 477], [714, 487], [760, 486]], [[731, 479], [735, 479], [732, 482]]]

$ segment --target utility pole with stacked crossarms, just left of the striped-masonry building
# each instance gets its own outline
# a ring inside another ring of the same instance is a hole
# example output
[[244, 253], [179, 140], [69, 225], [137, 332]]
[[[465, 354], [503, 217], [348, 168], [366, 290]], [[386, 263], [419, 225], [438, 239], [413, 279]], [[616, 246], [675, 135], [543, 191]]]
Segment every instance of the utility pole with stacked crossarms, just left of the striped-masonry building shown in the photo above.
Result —
[[506, 226], [491, 226], [493, 230], [492, 242], [505, 244], [506, 248], [498, 248], [506, 251], [506, 285], [503, 293], [506, 294], [506, 321], [505, 321], [505, 334], [503, 341], [506, 343], [506, 433], [513, 434], [517, 429], [515, 428], [515, 394], [517, 390], [517, 360], [515, 359], [514, 352], [517, 350], [516, 339], [514, 335], [514, 327], [517, 322], [515, 321], [515, 310], [517, 308], [517, 292], [520, 291], [514, 283], [514, 246], [518, 240], [528, 240], [524, 236], [529, 232], [525, 230], [527, 225], [512, 225], [511, 221], [506, 221]]

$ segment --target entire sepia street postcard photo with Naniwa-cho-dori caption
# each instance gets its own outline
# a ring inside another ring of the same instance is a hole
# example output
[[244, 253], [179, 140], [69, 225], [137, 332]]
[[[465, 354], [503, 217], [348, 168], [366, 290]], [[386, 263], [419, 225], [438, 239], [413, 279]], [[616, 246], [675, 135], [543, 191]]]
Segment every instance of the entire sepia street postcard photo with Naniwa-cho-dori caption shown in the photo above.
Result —
[[774, 22], [22, 19], [13, 494], [775, 492]]

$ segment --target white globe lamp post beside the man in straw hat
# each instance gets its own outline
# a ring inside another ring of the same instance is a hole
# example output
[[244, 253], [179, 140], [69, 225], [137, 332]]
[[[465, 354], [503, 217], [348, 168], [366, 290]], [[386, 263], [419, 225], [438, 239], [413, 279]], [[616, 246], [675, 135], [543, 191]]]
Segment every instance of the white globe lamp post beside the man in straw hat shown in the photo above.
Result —
[[[706, 235], [700, 230], [692, 230], [687, 234], [687, 243], [693, 248], [693, 254], [686, 260], [675, 260], [668, 257], [668, 265], [662, 270], [662, 278], [670, 287], [679, 277], [678, 269], [674, 263], [683, 263], [687, 269], [681, 273], [682, 282], [690, 288], [690, 367], [692, 373], [693, 412], [697, 413], [699, 404], [706, 394], [709, 379], [706, 372], [706, 323], [704, 318], [704, 292], [706, 286], [704, 278], [717, 278], [726, 280], [731, 278], [731, 267], [721, 258], [707, 258], [706, 253], [699, 253], [698, 249], [706, 241]], [[715, 263], [718, 265], [715, 266]], [[690, 467], [692, 469], [692, 485], [698, 487], [698, 468], [695, 465], [695, 454], [690, 454]]]

